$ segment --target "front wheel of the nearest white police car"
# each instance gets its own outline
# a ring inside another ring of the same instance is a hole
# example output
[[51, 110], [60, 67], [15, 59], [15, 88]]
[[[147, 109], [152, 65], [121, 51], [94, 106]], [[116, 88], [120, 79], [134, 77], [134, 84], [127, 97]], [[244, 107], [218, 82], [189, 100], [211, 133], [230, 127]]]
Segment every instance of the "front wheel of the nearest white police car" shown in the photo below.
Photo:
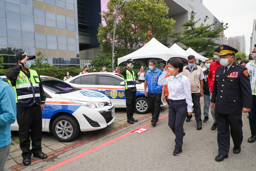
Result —
[[80, 129], [76, 119], [69, 115], [57, 117], [51, 127], [53, 135], [61, 142], [70, 142], [77, 138]]

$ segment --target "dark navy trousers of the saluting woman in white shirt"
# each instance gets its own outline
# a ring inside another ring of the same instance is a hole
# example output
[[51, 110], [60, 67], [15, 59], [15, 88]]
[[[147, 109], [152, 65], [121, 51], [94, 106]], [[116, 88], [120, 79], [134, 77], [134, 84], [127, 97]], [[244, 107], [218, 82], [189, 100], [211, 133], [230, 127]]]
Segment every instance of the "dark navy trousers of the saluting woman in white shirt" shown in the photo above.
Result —
[[175, 148], [182, 149], [183, 124], [187, 116], [186, 100], [169, 100], [168, 125], [176, 136]]

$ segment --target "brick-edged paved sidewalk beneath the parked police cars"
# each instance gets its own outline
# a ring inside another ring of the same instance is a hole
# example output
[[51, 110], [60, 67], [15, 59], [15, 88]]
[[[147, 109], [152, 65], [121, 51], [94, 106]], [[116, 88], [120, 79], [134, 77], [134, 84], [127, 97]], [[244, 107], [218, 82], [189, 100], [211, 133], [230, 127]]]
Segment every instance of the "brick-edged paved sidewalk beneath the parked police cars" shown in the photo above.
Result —
[[[74, 149], [76, 147], [81, 146], [82, 144], [86, 144], [88, 142], [91, 142], [95, 139], [98, 139], [100, 137], [103, 137], [104, 135], [108, 135], [110, 133], [113, 133], [119, 129], [122, 129], [124, 127], [127, 127], [131, 124], [127, 123], [127, 117], [125, 108], [115, 108], [115, 120], [112, 124], [110, 124], [108, 127], [97, 130], [97, 131], [90, 131], [86, 133], [80, 133], [77, 139], [75, 139], [72, 142], [69, 143], [63, 143], [55, 139], [52, 133], [43, 133], [42, 135], [42, 151], [48, 155], [47, 159], [39, 159], [31, 156], [31, 165], [36, 164], [38, 162], [42, 161], [53, 161], [54, 158], [57, 158], [59, 154], [62, 154], [64, 152], [67, 152], [71, 149]], [[168, 106], [161, 107], [161, 111], [168, 110]], [[138, 119], [139, 121], [142, 121], [148, 117], [151, 117], [151, 113], [147, 114], [136, 114], [134, 115], [135, 119]], [[7, 157], [7, 160], [5, 162], [5, 168], [9, 168], [11, 170], [21, 170], [23, 168], [26, 168], [28, 166], [24, 166], [22, 164], [22, 151], [19, 147], [19, 138], [18, 138], [18, 131], [12, 131], [12, 146], [10, 153]], [[30, 147], [31, 148], [31, 147]], [[29, 165], [30, 166], [30, 165]]]

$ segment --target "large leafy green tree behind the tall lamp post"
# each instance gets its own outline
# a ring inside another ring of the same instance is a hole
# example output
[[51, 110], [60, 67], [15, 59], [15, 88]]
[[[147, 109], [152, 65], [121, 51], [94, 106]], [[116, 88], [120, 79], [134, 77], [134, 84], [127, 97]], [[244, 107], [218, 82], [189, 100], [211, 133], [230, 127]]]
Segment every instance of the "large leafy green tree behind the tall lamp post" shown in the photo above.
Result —
[[[98, 28], [101, 50], [112, 58], [113, 28], [118, 1], [110, 0], [102, 18], [106, 25]], [[151, 38], [167, 40], [173, 32], [175, 21], [167, 17], [169, 8], [164, 0], [137, 0], [125, 4], [118, 11], [115, 32], [115, 64], [117, 58], [139, 49]]]

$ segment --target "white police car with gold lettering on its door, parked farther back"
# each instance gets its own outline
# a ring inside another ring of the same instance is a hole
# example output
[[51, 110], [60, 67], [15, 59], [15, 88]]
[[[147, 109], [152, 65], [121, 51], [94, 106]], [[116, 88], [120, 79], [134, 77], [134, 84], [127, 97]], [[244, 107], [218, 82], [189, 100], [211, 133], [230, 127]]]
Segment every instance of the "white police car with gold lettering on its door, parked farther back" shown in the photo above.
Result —
[[[95, 90], [108, 96], [116, 108], [125, 108], [125, 83], [121, 74], [112, 72], [91, 72], [68, 79], [72, 86]], [[150, 110], [148, 98], [144, 95], [144, 83], [137, 82], [137, 98], [135, 112], [148, 113]], [[161, 106], [166, 105], [161, 102]]]

